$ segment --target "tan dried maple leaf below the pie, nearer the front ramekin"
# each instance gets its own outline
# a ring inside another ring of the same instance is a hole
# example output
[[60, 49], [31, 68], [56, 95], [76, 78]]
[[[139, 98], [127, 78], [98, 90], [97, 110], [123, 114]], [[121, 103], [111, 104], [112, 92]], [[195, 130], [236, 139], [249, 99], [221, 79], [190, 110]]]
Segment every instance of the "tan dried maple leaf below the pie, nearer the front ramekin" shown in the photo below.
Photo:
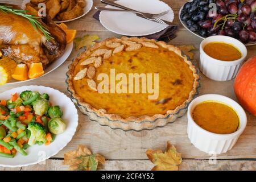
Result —
[[166, 151], [162, 150], [147, 150], [148, 159], [155, 164], [152, 171], [178, 171], [181, 164], [181, 154], [177, 153], [176, 148], [167, 142]]

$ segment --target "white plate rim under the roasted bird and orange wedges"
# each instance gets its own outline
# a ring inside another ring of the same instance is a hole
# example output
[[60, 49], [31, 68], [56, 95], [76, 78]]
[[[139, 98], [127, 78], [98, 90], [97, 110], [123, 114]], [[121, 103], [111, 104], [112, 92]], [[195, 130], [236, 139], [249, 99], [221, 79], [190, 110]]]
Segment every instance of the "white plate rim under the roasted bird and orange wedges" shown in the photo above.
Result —
[[[53, 61], [45, 70], [44, 70], [44, 75], [47, 75], [48, 73], [51, 73], [52, 71], [54, 71], [55, 69], [57, 69], [58, 67], [60, 67], [61, 64], [63, 64], [67, 59], [68, 56], [71, 54], [73, 49], [73, 42], [67, 44], [66, 49], [63, 53], [63, 55], [61, 57], [59, 57], [59, 59]], [[42, 75], [42, 76], [44, 76]], [[40, 76], [40, 77], [42, 77]], [[40, 78], [39, 77], [39, 78]], [[14, 80], [12, 79], [10, 82], [8, 82], [5, 85], [11, 85], [11, 84], [20, 84], [22, 82], [26, 82], [26, 81], [31, 81], [31, 80], [35, 80], [36, 78], [32, 78], [32, 79], [28, 79], [28, 80], [24, 80], [24, 81], [18, 81], [18, 80]]]

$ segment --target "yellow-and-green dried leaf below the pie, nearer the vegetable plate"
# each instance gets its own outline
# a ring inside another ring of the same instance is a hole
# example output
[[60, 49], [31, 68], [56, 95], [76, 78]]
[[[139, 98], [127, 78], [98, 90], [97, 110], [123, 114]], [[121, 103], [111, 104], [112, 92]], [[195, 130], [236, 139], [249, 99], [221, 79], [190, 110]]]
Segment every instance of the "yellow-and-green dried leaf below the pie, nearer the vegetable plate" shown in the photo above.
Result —
[[70, 165], [71, 171], [96, 171], [98, 163], [105, 164], [105, 158], [100, 154], [92, 154], [85, 146], [79, 145], [77, 150], [64, 154], [64, 165]]

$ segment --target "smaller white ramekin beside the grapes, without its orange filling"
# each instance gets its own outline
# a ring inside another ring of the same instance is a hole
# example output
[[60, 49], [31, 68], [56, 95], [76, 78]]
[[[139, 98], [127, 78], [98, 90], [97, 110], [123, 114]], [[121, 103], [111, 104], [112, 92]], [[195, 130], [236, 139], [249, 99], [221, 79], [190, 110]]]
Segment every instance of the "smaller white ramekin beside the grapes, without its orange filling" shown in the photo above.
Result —
[[[204, 47], [210, 42], [224, 42], [233, 44], [242, 53], [241, 59], [235, 61], [221, 61], [214, 59], [204, 52]], [[230, 38], [229, 36], [209, 36], [200, 44], [200, 70], [205, 76], [216, 81], [231, 80], [236, 77], [238, 69], [247, 56], [247, 49], [239, 40]]]

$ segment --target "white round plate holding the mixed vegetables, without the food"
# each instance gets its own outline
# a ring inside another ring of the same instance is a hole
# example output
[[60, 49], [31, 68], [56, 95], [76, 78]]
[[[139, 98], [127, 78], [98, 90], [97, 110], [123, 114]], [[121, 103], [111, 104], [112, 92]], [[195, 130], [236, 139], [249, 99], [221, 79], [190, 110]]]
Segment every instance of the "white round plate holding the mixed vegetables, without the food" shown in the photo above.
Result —
[[21, 86], [18, 88], [7, 90], [0, 93], [0, 100], [10, 98], [12, 93], [21, 93], [24, 90], [38, 91], [39, 93], [48, 93], [52, 105], [59, 105], [63, 110], [63, 120], [67, 124], [64, 133], [56, 135], [55, 140], [48, 146], [31, 146], [26, 150], [27, 156], [23, 156], [17, 152], [12, 159], [0, 157], [0, 166], [3, 167], [23, 167], [40, 163], [61, 151], [72, 139], [78, 125], [77, 109], [70, 98], [59, 90], [55, 90], [45, 86]]

